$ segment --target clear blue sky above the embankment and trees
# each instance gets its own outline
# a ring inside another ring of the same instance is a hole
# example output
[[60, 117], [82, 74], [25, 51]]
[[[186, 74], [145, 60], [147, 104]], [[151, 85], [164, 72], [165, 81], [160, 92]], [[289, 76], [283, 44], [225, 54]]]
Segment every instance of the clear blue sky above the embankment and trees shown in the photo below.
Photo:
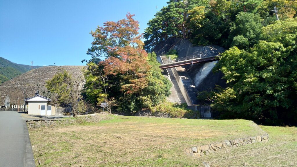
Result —
[[[90, 33], [135, 14], [140, 33], [167, 0], [0, 0], [0, 57], [33, 65], [83, 65]], [[156, 6], [158, 8], [156, 9]]]

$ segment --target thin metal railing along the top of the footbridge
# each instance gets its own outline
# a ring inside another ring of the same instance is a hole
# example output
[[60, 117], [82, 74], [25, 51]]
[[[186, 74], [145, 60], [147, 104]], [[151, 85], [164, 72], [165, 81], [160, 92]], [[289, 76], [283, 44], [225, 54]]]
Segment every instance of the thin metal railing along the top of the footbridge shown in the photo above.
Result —
[[190, 61], [193, 59], [198, 59], [198, 58], [208, 58], [208, 57], [215, 57], [217, 55], [219, 55], [220, 53], [222, 53], [223, 50], [219, 50], [217, 52], [208, 52], [208, 53], [202, 53], [202, 54], [197, 54], [197, 55], [191, 55], [191, 56], [186, 56], [186, 57], [181, 57], [181, 58], [176, 58], [176, 59], [168, 59], [165, 61], [159, 61], [159, 63], [161, 65], [165, 65], [165, 64], [171, 64], [171, 63], [177, 63], [180, 61]]

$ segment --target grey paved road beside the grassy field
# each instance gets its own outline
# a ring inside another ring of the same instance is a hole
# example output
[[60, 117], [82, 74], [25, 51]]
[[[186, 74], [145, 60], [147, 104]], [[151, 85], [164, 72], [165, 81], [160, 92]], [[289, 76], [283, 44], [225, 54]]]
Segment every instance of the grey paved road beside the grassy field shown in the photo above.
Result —
[[21, 113], [0, 111], [0, 167], [35, 167], [27, 125]]

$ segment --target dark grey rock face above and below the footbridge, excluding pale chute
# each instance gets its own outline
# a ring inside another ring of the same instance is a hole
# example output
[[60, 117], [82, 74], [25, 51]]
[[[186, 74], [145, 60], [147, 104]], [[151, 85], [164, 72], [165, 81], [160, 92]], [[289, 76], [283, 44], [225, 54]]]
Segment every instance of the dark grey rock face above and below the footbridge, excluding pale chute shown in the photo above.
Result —
[[[177, 51], [179, 58], [224, 50], [224, 48], [215, 45], [195, 46], [187, 39], [170, 38], [160, 42], [153, 51], [157, 55], [164, 55], [171, 49]], [[223, 74], [212, 71], [216, 63], [217, 61], [176, 68], [193, 104], [199, 104], [196, 98], [198, 91], [213, 90], [216, 85], [220, 85], [223, 88], [226, 87], [226, 82], [222, 79]]]

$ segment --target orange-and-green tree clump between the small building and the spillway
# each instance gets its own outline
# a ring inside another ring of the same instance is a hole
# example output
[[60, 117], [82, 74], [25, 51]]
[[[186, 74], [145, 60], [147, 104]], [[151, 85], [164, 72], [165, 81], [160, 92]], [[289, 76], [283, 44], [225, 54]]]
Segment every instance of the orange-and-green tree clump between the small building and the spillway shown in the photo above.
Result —
[[122, 112], [136, 112], [159, 104], [169, 96], [171, 87], [158, 68], [155, 54], [143, 50], [139, 23], [133, 16], [128, 13], [125, 19], [107, 21], [103, 27], [91, 31], [94, 41], [87, 52], [91, 60], [86, 72], [86, 92], [91, 94], [100, 87], [98, 98], [93, 101], [101, 103], [102, 94], [106, 99], [114, 97]]

